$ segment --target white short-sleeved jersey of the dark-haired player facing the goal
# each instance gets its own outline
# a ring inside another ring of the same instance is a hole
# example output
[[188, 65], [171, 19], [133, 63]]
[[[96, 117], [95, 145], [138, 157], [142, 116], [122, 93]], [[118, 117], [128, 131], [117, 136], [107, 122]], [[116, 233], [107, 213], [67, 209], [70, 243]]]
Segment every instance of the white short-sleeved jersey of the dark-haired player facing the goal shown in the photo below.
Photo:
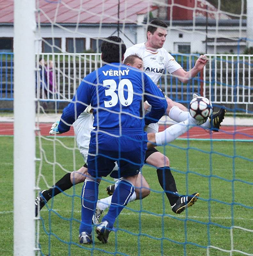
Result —
[[155, 84], [157, 84], [165, 69], [169, 73], [173, 73], [179, 68], [182, 68], [164, 48], [153, 52], [146, 49], [145, 43], [134, 44], [126, 50], [125, 58], [131, 54], [138, 54], [142, 58], [144, 72]]

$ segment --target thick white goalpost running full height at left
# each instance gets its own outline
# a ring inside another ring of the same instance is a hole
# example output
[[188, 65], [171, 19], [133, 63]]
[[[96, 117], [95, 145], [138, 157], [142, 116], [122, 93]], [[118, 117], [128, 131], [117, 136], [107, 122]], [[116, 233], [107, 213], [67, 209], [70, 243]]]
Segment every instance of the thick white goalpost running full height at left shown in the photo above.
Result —
[[14, 1], [14, 255], [35, 255], [35, 0]]

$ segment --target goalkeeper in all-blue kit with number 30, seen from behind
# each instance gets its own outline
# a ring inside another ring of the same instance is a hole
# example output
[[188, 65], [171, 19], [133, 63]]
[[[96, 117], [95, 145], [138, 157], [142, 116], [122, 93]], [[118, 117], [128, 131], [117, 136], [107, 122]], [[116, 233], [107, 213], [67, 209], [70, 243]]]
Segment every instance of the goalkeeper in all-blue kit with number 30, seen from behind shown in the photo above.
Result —
[[[110, 36], [107, 40], [110, 42], [101, 45], [101, 59], [107, 64], [83, 79], [72, 102], [63, 110], [57, 131], [69, 131], [69, 125], [91, 104], [95, 129], [91, 132], [88, 175], [81, 196], [81, 244], [92, 242], [92, 216], [99, 182], [102, 176], [110, 174], [116, 161], [119, 170], [111, 176], [123, 179], [115, 189], [107, 215], [96, 228], [99, 240], [107, 242], [115, 219], [134, 192], [135, 181], [144, 164], [147, 148], [144, 124], [157, 122], [167, 108], [162, 92], [146, 74], [119, 63], [126, 50], [121, 38]], [[145, 100], [152, 109], [144, 116]]]

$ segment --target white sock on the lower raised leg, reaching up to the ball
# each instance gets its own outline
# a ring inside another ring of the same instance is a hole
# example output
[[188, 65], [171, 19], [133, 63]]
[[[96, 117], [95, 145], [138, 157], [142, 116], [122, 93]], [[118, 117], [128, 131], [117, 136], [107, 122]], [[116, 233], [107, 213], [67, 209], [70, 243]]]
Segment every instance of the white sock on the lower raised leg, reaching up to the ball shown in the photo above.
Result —
[[191, 129], [193, 126], [197, 125], [199, 121], [194, 119], [192, 116], [190, 116], [187, 120], [180, 122], [178, 124], [173, 124], [166, 130], [162, 132], [155, 133], [155, 141], [157, 146], [162, 146], [166, 143], [169, 143], [178, 136], [184, 134], [189, 129]]

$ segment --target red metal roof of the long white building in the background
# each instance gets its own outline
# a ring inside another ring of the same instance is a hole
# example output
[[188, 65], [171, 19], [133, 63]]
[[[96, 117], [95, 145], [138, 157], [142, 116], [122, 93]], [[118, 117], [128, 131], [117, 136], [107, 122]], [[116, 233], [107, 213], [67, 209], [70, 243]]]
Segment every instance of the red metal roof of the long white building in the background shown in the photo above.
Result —
[[[14, 0], [0, 0], [0, 23], [13, 23]], [[37, 0], [41, 23], [117, 23], [118, 0]], [[119, 0], [121, 23], [136, 23], [137, 14], [156, 9], [150, 1]]]

